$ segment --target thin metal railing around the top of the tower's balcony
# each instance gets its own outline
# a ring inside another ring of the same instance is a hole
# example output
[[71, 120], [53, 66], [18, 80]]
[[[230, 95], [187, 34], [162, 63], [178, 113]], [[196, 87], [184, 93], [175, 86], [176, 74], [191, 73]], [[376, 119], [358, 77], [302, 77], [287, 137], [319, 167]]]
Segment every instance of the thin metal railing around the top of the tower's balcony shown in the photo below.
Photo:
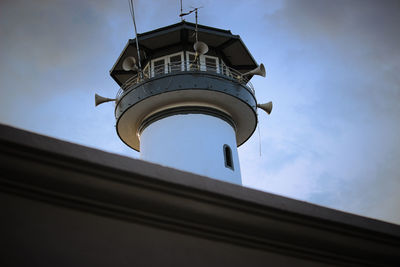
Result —
[[239, 71], [226, 66], [225, 64], [200, 64], [199, 62], [177, 62], [168, 63], [167, 65], [155, 66], [154, 68], [148, 68], [147, 71], [143, 71], [143, 77], [141, 78], [139, 74], [133, 75], [129, 78], [118, 90], [117, 102], [121, 97], [139, 82], [148, 80], [150, 78], [159, 77], [170, 73], [179, 73], [186, 71], [200, 71], [208, 73], [217, 73], [223, 75], [233, 81], [246, 86], [250, 92], [254, 95], [254, 87], [250, 83], [249, 79], [242, 75]]

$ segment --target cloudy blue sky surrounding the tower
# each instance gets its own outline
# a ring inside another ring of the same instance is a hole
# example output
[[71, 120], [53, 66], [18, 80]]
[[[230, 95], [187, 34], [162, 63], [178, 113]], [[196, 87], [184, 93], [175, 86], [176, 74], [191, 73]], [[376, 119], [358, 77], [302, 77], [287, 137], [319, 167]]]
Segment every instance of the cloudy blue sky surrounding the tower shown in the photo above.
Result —
[[[138, 32], [178, 23], [179, 5], [136, 0]], [[400, 224], [400, 2], [183, 0], [199, 6], [267, 70], [252, 83], [274, 109], [239, 147], [243, 185]], [[114, 105], [94, 107], [129, 38], [125, 0], [2, 0], [0, 123], [138, 158]]]

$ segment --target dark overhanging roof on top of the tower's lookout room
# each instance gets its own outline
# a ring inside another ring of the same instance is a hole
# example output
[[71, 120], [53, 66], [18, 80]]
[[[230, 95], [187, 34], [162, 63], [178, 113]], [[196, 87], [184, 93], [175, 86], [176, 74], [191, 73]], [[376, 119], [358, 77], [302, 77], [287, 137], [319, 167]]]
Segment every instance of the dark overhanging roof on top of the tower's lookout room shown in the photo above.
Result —
[[[138, 34], [141, 49], [142, 62], [148, 60], [148, 56], [177, 45], [187, 47], [187, 51], [193, 51], [195, 42], [196, 24], [182, 21], [146, 33]], [[205, 42], [210, 50], [219, 51], [224, 62], [242, 73], [250, 71], [258, 66], [246, 45], [239, 35], [233, 35], [229, 30], [222, 30], [208, 26], [198, 25], [198, 39]], [[122, 85], [132, 71], [122, 69], [123, 60], [133, 56], [137, 59], [136, 40], [130, 39], [114, 66], [110, 70], [111, 77]]]

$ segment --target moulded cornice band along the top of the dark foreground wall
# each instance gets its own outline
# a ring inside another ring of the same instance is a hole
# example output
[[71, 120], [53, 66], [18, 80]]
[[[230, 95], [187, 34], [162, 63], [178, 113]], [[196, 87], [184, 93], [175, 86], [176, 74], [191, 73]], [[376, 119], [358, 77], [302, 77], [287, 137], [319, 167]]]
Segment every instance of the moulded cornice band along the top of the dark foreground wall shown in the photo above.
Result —
[[400, 262], [399, 225], [6, 125], [0, 167], [0, 191], [53, 205], [336, 264]]

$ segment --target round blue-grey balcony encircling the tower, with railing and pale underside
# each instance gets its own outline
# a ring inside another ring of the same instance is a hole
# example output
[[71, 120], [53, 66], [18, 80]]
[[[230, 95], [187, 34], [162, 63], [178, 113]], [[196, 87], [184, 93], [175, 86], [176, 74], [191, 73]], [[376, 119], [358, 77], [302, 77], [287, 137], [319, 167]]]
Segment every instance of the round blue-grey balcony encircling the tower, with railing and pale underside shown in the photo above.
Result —
[[236, 70], [193, 62], [169, 64], [148, 69], [123, 84], [115, 108], [117, 133], [139, 151], [139, 129], [146, 118], [171, 108], [207, 107], [232, 118], [239, 146], [256, 128], [256, 105], [252, 85]]

